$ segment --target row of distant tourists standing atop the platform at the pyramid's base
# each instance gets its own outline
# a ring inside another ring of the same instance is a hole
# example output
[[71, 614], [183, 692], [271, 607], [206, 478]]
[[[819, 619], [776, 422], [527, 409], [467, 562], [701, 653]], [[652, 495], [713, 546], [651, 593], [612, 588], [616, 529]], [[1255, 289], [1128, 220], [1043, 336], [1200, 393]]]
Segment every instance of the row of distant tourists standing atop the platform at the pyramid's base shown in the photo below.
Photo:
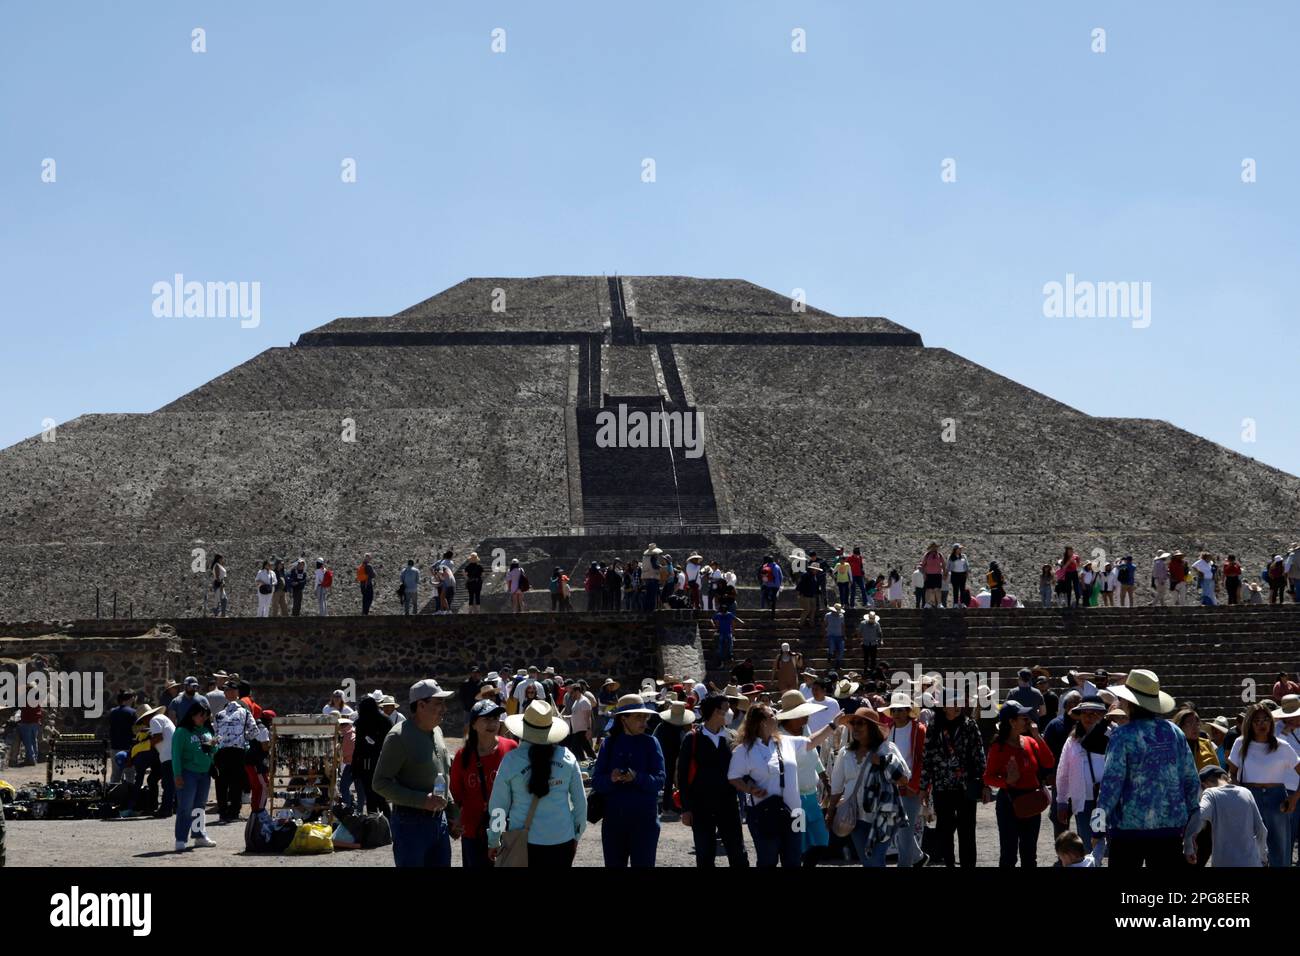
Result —
[[[229, 571], [225, 558], [214, 555], [208, 570], [212, 613], [229, 613]], [[528, 609], [533, 583], [517, 559], [503, 568], [503, 589], [515, 611]], [[446, 550], [429, 571], [422, 571], [413, 558], [393, 583], [403, 614], [419, 614], [421, 589], [432, 604], [432, 613], [450, 614], [456, 609], [458, 580], [464, 583], [465, 613], [477, 613], [482, 604], [486, 570], [476, 553], [458, 566], [455, 554]], [[989, 561], [978, 572], [961, 544], [945, 554], [932, 541], [904, 574], [900, 567], [872, 575], [861, 548], [837, 548], [822, 558], [816, 551], [797, 551], [784, 559], [767, 554], [742, 578], [722, 561], [692, 551], [685, 561], [675, 561], [651, 542], [640, 558], [594, 561], [585, 571], [555, 567], [546, 581], [550, 604], [542, 609], [572, 611], [633, 611], [671, 609], [725, 610], [734, 609], [737, 587], [746, 581], [759, 588], [760, 605], [775, 615], [783, 593], [793, 591], [801, 610], [801, 622], [812, 624], [823, 606], [832, 602], [854, 607], [1023, 607], [1034, 598], [1027, 591], [1017, 596], [1008, 591], [1009, 575], [997, 561]], [[378, 571], [370, 554], [361, 557], [351, 572], [358, 588], [360, 613], [369, 614], [374, 604]], [[1037, 602], [1044, 607], [1134, 606], [1143, 581], [1149, 585], [1152, 604], [1283, 604], [1286, 594], [1300, 602], [1300, 542], [1292, 542], [1284, 554], [1275, 554], [1251, 575], [1235, 554], [1219, 555], [1201, 551], [1195, 561], [1182, 550], [1157, 551], [1149, 567], [1140, 568], [1131, 554], [1119, 561], [1084, 559], [1074, 548], [1065, 548], [1062, 557], [1043, 564], [1037, 576]], [[338, 583], [341, 585], [341, 583]], [[1026, 589], [1035, 581], [1022, 581]], [[538, 581], [541, 585], [541, 581]], [[268, 558], [252, 579], [257, 617], [298, 617], [303, 594], [311, 587], [316, 613], [330, 613], [330, 594], [337, 587], [334, 568], [325, 558], [316, 558], [308, 570], [307, 558], [286, 563]], [[575, 597], [575, 591], [580, 592]], [[835, 598], [838, 597], [838, 601]], [[534, 605], [536, 606], [536, 605]]]

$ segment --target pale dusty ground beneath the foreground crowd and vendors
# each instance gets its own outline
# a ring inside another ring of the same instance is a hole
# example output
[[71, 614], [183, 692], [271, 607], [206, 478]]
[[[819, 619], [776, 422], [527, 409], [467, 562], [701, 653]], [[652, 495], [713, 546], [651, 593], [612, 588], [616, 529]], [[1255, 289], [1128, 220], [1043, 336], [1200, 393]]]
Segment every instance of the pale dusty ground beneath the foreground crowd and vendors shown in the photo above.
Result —
[[[8, 767], [0, 779], [22, 787], [43, 783], [43, 767]], [[244, 810], [247, 819], [247, 808]], [[391, 866], [389, 847], [368, 851], [338, 851], [322, 856], [250, 855], [243, 848], [243, 823], [220, 825], [209, 806], [208, 836], [217, 845], [211, 849], [173, 849], [170, 819], [69, 819], [8, 822], [6, 848], [9, 866]], [[997, 865], [997, 825], [993, 805], [980, 806], [976, 814], [976, 852], [980, 866]], [[745, 836], [750, 862], [754, 847]], [[1039, 836], [1039, 865], [1056, 861], [1052, 848], [1052, 826], [1044, 819]], [[452, 865], [460, 865], [460, 845], [452, 842]], [[659, 866], [694, 866], [696, 855], [690, 830], [676, 817], [662, 821]], [[838, 861], [840, 865], [848, 865]], [[588, 827], [577, 848], [577, 866], [603, 866], [601, 825]], [[727, 858], [719, 853], [718, 865]]]

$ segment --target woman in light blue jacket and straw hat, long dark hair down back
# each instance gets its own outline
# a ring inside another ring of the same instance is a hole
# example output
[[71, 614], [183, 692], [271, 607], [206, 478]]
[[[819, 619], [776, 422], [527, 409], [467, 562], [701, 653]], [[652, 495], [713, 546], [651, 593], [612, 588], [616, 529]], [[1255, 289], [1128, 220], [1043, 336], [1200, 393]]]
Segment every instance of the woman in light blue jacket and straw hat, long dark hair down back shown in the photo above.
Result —
[[[503, 829], [526, 830], [529, 866], [572, 866], [586, 830], [586, 791], [577, 760], [568, 748], [556, 745], [568, 736], [568, 723], [541, 700], [503, 723], [519, 747], [502, 757], [491, 786], [488, 858], [497, 860]], [[504, 821], [504, 827], [497, 821]]]

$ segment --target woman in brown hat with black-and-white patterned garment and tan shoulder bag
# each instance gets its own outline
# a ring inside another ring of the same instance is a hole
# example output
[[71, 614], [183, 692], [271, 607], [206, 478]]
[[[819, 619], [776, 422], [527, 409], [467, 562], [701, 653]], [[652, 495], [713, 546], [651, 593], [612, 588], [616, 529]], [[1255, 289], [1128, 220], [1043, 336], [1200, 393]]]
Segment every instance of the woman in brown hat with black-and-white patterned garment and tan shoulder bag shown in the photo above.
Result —
[[900, 829], [907, 823], [898, 786], [911, 775], [898, 748], [889, 743], [889, 727], [868, 706], [840, 717], [850, 730], [848, 745], [836, 754], [831, 771], [827, 819], [842, 801], [857, 806], [858, 822], [850, 834], [863, 866], [884, 866]]

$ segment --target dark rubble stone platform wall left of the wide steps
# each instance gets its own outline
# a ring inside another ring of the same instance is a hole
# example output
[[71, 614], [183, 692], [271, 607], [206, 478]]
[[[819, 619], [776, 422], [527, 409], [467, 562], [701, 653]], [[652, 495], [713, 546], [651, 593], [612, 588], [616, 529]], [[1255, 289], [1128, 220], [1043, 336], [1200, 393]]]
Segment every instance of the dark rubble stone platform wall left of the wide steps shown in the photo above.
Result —
[[[690, 676], [703, 676], [696, 620], [676, 611], [194, 618], [156, 626], [78, 620], [40, 637], [4, 636], [30, 630], [31, 624], [0, 624], [0, 656], [43, 653], [65, 669], [101, 670], [105, 693], [130, 688], [151, 700], [157, 700], [168, 680], [188, 674], [205, 680], [214, 670], [238, 671], [252, 683], [257, 702], [281, 714], [318, 711], [337, 687], [355, 688], [358, 696], [380, 688], [404, 705], [416, 680], [432, 676], [445, 689], [455, 689], [473, 663], [503, 672], [552, 665], [564, 676], [589, 683], [612, 676], [633, 688], [670, 663], [680, 675], [696, 661]], [[672, 650], [666, 656], [663, 648]], [[107, 732], [107, 721], [101, 724]], [[61, 730], [70, 726], [60, 717]], [[446, 726], [451, 732], [463, 726], [456, 700]]]

